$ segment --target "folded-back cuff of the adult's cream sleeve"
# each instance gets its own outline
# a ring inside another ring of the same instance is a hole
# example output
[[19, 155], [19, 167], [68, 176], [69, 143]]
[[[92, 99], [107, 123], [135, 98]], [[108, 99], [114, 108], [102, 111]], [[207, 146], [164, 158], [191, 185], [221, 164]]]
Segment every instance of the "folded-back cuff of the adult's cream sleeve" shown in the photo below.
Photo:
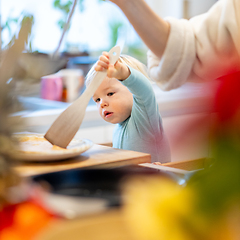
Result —
[[196, 52], [194, 32], [189, 21], [177, 19], [168, 21], [171, 30], [163, 57], [160, 59], [148, 51], [149, 74], [163, 90], [177, 88], [186, 81]]

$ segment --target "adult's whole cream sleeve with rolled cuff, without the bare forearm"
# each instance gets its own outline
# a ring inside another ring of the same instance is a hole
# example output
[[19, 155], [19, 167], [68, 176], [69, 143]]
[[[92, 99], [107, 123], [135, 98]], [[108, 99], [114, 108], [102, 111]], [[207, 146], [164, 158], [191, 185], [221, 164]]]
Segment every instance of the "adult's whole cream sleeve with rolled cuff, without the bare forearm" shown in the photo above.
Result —
[[148, 51], [149, 74], [160, 88], [240, 71], [240, 0], [219, 0], [190, 20], [166, 20], [171, 30], [162, 58]]

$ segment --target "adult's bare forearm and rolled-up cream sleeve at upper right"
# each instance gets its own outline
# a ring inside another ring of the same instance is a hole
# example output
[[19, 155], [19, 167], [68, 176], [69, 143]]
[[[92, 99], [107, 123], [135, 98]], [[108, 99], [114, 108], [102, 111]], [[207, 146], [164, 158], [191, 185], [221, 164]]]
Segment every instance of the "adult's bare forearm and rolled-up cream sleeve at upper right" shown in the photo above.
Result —
[[170, 28], [143, 0], [111, 1], [151, 50], [150, 76], [163, 90], [240, 70], [239, 0], [219, 0], [207, 13], [189, 21], [165, 19]]

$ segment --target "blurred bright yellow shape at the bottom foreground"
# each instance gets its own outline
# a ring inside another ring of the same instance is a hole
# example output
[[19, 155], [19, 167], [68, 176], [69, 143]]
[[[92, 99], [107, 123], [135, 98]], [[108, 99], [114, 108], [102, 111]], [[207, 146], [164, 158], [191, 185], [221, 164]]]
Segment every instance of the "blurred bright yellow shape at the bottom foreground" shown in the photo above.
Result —
[[129, 227], [142, 240], [191, 239], [185, 225], [193, 211], [194, 197], [191, 189], [169, 179], [132, 179], [125, 188]]

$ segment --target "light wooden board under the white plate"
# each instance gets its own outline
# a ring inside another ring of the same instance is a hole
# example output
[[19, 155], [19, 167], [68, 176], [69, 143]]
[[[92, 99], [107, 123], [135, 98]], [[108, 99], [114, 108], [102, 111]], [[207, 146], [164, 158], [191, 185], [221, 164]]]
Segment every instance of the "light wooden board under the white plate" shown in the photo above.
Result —
[[14, 169], [21, 176], [34, 176], [37, 174], [57, 172], [67, 169], [118, 167], [149, 162], [151, 162], [151, 155], [147, 153], [94, 144], [89, 150], [75, 158], [43, 163], [17, 163], [14, 166]]

